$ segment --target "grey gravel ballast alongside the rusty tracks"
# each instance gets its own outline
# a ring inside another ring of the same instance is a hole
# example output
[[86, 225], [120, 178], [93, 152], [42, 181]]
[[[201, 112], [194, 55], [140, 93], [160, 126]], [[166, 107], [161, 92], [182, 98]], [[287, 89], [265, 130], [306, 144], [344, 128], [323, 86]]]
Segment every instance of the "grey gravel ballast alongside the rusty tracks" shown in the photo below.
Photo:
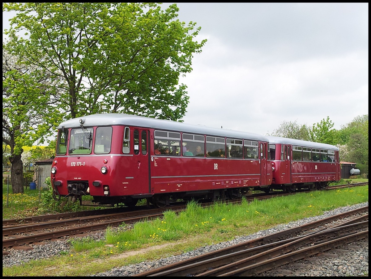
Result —
[[[150, 262], [141, 262], [136, 265], [121, 266], [112, 268], [107, 272], [93, 274], [91, 276], [132, 276], [134, 274], [146, 271], [154, 267], [168, 265], [170, 263], [179, 262], [183, 259], [188, 259], [197, 255], [218, 250], [227, 246], [236, 245], [247, 240], [270, 235], [292, 227], [303, 225], [305, 223], [314, 222], [325, 217], [337, 215], [359, 207], [368, 206], [367, 203], [360, 203], [352, 206], [340, 207], [323, 215], [307, 217], [301, 220], [290, 222], [288, 224], [278, 225], [267, 230], [262, 230], [252, 235], [241, 236], [236, 239], [208, 245], [199, 249], [183, 253], [178, 256], [159, 259]], [[104, 238], [104, 232], [93, 235], [95, 239]], [[46, 259], [53, 256], [58, 256], [60, 253], [70, 253], [70, 247], [67, 241], [58, 240], [51, 241], [44, 245], [30, 245], [31, 250], [16, 250], [3, 249], [3, 267], [22, 265], [30, 260]], [[7, 255], [6, 255], [7, 254]], [[283, 270], [284, 269], [284, 270]], [[288, 266], [282, 269], [270, 270], [260, 274], [259, 276], [367, 276], [368, 275], [368, 239], [358, 243], [351, 243], [347, 250], [342, 252], [342, 249], [337, 253], [336, 258], [322, 257], [321, 259], [311, 258], [306, 261], [301, 261], [297, 265], [292, 265], [291, 271]]]

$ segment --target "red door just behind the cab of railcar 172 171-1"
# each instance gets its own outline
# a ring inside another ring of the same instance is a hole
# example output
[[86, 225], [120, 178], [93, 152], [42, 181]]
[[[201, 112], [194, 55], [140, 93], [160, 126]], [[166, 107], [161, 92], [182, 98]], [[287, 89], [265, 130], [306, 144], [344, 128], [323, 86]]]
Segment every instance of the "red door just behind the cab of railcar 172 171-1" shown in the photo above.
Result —
[[134, 128], [134, 167], [133, 176], [137, 192], [150, 193], [150, 160], [148, 130]]

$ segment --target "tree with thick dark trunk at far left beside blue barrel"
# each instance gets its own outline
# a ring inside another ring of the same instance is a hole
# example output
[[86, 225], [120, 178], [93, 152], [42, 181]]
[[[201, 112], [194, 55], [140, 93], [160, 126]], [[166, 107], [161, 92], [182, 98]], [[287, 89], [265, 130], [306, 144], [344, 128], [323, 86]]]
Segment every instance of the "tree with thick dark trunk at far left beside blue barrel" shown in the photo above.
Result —
[[23, 193], [23, 146], [44, 141], [59, 122], [53, 76], [9, 55], [3, 45], [3, 143], [10, 147], [13, 193]]

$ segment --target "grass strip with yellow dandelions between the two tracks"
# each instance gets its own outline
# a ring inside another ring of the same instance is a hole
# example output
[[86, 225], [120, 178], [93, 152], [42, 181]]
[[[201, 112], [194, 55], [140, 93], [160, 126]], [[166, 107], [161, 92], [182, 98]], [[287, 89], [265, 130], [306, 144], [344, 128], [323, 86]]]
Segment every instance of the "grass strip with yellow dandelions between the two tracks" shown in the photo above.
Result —
[[[353, 182], [362, 181], [357, 179]], [[178, 215], [169, 209], [164, 217], [136, 223], [128, 230], [116, 232], [109, 228], [105, 240], [72, 239], [70, 252], [52, 259], [3, 268], [3, 276], [92, 275], [117, 266], [179, 255], [236, 236], [363, 202], [368, 202], [368, 185], [245, 201], [241, 205], [215, 203], [203, 209], [196, 203], [190, 203], [187, 210]]]

